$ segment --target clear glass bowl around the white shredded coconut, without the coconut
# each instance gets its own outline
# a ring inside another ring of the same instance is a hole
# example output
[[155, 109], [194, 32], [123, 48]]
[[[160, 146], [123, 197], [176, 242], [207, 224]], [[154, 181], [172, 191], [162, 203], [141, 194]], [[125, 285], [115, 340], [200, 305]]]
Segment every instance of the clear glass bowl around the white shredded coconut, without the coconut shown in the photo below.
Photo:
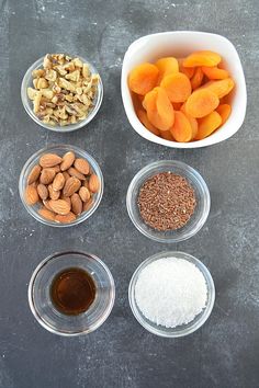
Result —
[[[203, 274], [207, 286], [207, 300], [205, 308], [191, 322], [178, 326], [176, 328], [166, 328], [151, 322], [143, 315], [135, 299], [135, 286], [139, 274], [148, 264], [162, 258], [183, 259], [194, 264]], [[137, 321], [143, 326], [143, 328], [148, 330], [150, 333], [167, 338], [184, 336], [200, 329], [210, 317], [215, 301], [215, 286], [207, 267], [200, 260], [195, 259], [191, 254], [184, 252], [160, 252], [146, 259], [134, 272], [128, 286], [128, 300], [133, 315], [135, 316]]]

